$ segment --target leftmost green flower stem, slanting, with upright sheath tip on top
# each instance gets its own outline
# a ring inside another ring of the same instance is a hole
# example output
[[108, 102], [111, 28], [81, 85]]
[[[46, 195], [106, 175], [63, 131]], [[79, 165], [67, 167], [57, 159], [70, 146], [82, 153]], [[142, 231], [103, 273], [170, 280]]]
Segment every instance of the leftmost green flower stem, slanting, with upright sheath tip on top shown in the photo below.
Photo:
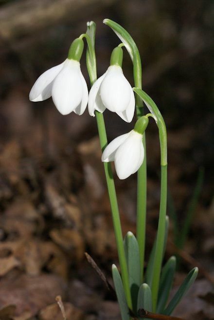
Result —
[[[95, 23], [91, 21], [87, 25], [88, 25], [87, 34], [86, 34], [87, 36], [86, 39], [88, 43], [87, 68], [89, 72], [90, 84], [92, 86], [97, 79], [96, 57], [95, 57], [95, 50], [94, 50]], [[98, 111], [95, 111], [95, 115], [97, 120], [100, 145], [101, 145], [102, 151], [104, 151], [104, 149], [107, 146], [107, 134], [106, 134], [104, 117], [103, 117], [103, 114], [99, 113]], [[128, 269], [127, 269], [127, 264], [125, 259], [125, 249], [123, 244], [123, 234], [122, 234], [120, 214], [118, 209], [117, 196], [116, 196], [111, 164], [104, 162], [104, 169], [105, 169], [106, 180], [107, 180], [107, 189], [108, 189], [108, 195], [110, 199], [112, 220], [113, 220], [114, 233], [115, 233], [117, 250], [118, 250], [119, 263], [121, 267], [121, 275], [122, 275], [122, 280], [124, 284], [125, 297], [126, 297], [128, 307], [132, 309], [131, 293], [130, 293], [129, 280], [128, 280]]]

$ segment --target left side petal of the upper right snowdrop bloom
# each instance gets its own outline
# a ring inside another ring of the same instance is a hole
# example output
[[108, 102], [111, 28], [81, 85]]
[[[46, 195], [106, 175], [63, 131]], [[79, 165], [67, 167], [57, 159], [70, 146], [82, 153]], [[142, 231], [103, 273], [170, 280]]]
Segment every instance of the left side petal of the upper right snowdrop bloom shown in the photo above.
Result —
[[106, 110], [101, 98], [100, 98], [100, 86], [105, 78], [107, 72], [104, 75], [99, 77], [94, 84], [92, 85], [89, 92], [89, 114], [95, 116], [94, 111], [97, 110], [103, 113]]

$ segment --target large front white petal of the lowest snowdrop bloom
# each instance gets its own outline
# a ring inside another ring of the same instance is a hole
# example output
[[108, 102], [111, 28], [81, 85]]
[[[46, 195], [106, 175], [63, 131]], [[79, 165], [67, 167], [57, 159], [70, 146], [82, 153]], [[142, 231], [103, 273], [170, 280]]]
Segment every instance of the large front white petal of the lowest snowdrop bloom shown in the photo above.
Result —
[[126, 179], [137, 171], [143, 162], [142, 146], [142, 134], [132, 130], [114, 157], [115, 169], [120, 179]]

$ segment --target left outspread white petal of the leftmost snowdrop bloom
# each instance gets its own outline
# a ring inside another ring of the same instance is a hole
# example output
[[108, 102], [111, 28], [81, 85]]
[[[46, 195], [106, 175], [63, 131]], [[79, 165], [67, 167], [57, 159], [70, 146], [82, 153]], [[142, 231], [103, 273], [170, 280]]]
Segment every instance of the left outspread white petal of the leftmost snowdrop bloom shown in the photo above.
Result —
[[43, 101], [51, 97], [53, 80], [62, 70], [63, 64], [64, 62], [58, 64], [38, 77], [29, 94], [31, 101]]

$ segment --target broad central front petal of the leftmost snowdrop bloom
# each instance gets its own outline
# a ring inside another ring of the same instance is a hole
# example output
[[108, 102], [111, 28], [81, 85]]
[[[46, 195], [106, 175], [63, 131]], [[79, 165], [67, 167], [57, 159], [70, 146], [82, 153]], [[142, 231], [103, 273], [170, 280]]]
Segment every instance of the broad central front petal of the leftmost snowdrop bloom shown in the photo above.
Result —
[[54, 105], [60, 113], [69, 114], [79, 106], [82, 97], [83, 85], [80, 64], [78, 61], [67, 59], [53, 83]]

